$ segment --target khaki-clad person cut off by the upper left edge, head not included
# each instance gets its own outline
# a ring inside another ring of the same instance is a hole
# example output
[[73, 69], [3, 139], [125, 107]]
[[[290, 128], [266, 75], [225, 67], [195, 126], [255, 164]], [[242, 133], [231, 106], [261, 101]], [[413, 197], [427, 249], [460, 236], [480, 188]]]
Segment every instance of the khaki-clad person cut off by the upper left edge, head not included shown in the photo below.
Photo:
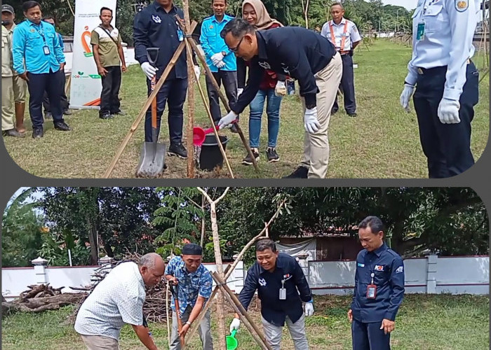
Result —
[[8, 30], [1, 26], [1, 132], [4, 136], [22, 137], [13, 124], [12, 42]]

